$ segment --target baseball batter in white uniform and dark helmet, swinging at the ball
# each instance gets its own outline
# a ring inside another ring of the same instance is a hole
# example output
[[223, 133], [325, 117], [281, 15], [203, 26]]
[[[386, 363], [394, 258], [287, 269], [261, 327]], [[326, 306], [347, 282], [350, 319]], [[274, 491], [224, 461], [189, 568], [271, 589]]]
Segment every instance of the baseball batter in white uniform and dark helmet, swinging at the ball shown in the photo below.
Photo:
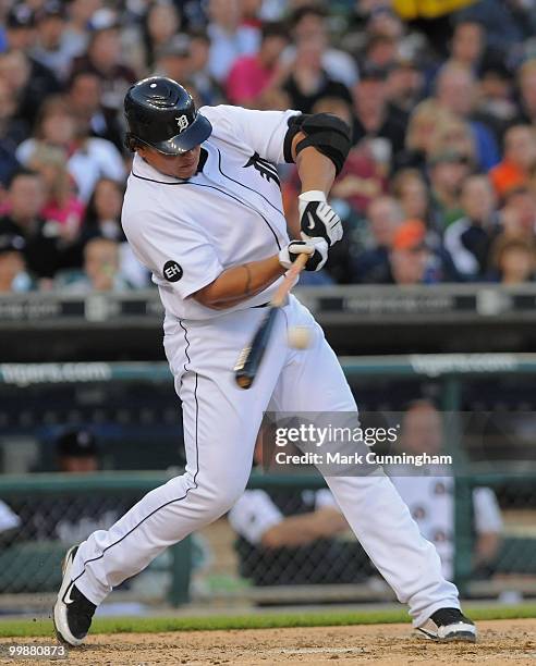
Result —
[[[293, 412], [357, 409], [320, 326], [293, 296], [254, 386], [239, 388], [232, 372], [297, 255], [309, 256], [306, 270], [319, 270], [341, 238], [326, 196], [350, 148], [346, 125], [296, 111], [197, 112], [186, 90], [163, 77], [132, 86], [125, 115], [135, 156], [122, 222], [166, 308], [163, 345], [182, 400], [187, 465], [109, 530], [66, 553], [53, 616], [71, 645], [83, 642], [114, 587], [233, 506], [269, 404]], [[283, 162], [296, 163], [302, 182], [302, 240], [290, 240], [282, 212], [276, 164]], [[289, 348], [291, 326], [312, 331], [306, 350]], [[363, 547], [409, 604], [414, 626], [438, 640], [474, 641], [456, 588], [388, 478], [326, 480]]]

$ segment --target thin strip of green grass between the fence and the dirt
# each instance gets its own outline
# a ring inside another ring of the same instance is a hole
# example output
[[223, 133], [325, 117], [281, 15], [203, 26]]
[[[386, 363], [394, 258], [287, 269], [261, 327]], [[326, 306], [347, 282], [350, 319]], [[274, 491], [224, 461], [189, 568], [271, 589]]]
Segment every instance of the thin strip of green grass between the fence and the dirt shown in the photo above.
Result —
[[[536, 618], [536, 605], [489, 606], [466, 608], [475, 620]], [[281, 627], [338, 627], [409, 622], [404, 608], [400, 610], [267, 613], [207, 617], [105, 617], [92, 625], [92, 633], [157, 633], [160, 631], [210, 631], [216, 629], [273, 629]], [[0, 638], [52, 636], [50, 619], [0, 620]]]

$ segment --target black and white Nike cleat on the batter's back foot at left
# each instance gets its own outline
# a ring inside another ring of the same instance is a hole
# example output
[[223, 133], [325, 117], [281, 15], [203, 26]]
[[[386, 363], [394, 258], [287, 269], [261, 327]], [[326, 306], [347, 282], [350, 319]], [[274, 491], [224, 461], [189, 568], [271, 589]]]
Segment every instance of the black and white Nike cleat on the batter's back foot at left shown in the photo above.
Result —
[[72, 546], [63, 558], [63, 579], [53, 607], [56, 636], [62, 643], [82, 645], [97, 606], [86, 599], [71, 579], [71, 569], [78, 546]]

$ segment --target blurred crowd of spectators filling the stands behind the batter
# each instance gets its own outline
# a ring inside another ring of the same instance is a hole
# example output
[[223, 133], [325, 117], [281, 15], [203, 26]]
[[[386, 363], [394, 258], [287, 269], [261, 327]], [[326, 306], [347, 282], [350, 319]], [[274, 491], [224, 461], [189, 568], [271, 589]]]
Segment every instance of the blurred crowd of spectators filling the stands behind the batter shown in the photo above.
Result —
[[536, 0], [26, 0], [0, 7], [0, 293], [150, 286], [121, 229], [122, 103], [154, 74], [351, 125], [317, 283], [534, 280]]

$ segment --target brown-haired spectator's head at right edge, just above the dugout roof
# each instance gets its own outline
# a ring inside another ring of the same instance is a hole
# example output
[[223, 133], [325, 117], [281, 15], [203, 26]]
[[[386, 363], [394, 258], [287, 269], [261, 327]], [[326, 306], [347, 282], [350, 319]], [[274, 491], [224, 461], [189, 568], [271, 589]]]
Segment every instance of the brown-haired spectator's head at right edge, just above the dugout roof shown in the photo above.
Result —
[[502, 284], [523, 284], [535, 278], [535, 244], [525, 238], [501, 235], [491, 248], [491, 273]]

